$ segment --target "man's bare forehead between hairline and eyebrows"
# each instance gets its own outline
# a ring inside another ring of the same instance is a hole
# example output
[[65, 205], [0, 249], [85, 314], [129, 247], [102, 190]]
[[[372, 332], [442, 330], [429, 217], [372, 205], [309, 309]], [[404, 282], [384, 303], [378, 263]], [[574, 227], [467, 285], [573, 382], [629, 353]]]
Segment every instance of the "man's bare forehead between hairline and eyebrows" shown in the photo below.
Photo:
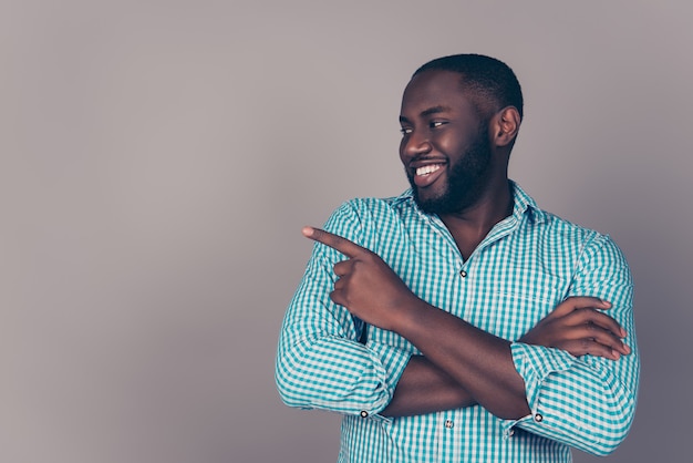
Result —
[[402, 115], [418, 114], [431, 107], [469, 111], [472, 102], [463, 92], [462, 74], [430, 70], [416, 74], [404, 89]]

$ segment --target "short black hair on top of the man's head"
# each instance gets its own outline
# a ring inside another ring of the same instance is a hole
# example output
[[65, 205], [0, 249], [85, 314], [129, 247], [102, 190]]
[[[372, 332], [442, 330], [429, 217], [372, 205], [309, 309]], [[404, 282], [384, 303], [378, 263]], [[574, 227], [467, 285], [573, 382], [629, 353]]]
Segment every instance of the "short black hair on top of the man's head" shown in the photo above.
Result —
[[[514, 106], [523, 119], [523, 90], [513, 70], [503, 61], [483, 54], [453, 54], [428, 61], [414, 72], [439, 70], [462, 74], [462, 89], [479, 97], [479, 110], [496, 113]], [[487, 114], [490, 115], [490, 114]]]

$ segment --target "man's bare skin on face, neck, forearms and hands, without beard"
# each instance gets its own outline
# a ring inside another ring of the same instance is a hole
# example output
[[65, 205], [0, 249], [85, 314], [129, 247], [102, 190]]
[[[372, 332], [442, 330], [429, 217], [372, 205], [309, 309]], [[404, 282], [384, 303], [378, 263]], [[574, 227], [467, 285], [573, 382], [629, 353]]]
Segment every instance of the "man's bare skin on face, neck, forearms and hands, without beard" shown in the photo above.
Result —
[[[451, 166], [464, 156], [480, 126], [479, 111], [458, 82], [458, 74], [426, 71], [412, 79], [404, 92], [400, 155], [405, 168], [417, 176], [424, 198], [445, 191]], [[490, 167], [468, 204], [441, 215], [465, 258], [511, 210], [507, 165], [519, 122], [515, 107], [493, 113], [487, 134]], [[422, 174], [422, 167], [428, 171]], [[399, 333], [422, 352], [410, 360], [383, 414], [413, 415], [473, 404], [501, 419], [530, 413], [510, 341], [418, 298], [374, 253], [321, 229], [306, 227], [303, 235], [348, 257], [334, 265], [339, 279], [330, 298], [335, 303], [366, 323]], [[598, 298], [569, 298], [519, 341], [563, 349], [576, 357], [618, 360], [630, 349], [622, 342], [624, 330], [603, 312], [610, 307]]]

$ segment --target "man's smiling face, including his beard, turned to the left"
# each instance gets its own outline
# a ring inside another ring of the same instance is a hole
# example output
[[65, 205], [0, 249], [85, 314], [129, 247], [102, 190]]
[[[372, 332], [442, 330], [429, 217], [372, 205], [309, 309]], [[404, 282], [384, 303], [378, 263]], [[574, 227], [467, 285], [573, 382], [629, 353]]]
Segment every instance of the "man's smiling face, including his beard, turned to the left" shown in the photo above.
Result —
[[402, 99], [400, 157], [418, 207], [461, 213], [480, 197], [492, 169], [488, 121], [462, 93], [461, 75], [424, 71]]

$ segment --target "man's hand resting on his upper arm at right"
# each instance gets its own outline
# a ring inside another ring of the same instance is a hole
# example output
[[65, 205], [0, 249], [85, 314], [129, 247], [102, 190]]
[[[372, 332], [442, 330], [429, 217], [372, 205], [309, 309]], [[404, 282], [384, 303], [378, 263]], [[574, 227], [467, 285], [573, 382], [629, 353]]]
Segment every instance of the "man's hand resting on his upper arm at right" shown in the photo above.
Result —
[[625, 330], [603, 313], [610, 308], [610, 302], [599, 298], [568, 298], [519, 341], [562, 349], [575, 357], [589, 353], [618, 360], [631, 350], [622, 341]]

